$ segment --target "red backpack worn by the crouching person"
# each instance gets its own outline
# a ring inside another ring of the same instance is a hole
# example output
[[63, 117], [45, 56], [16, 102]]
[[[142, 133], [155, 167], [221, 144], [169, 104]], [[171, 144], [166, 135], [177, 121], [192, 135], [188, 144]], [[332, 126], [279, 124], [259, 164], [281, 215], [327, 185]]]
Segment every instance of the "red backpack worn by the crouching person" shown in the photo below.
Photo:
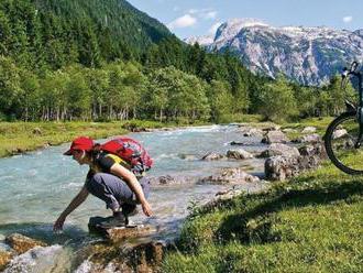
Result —
[[114, 154], [125, 161], [132, 172], [146, 172], [153, 165], [153, 160], [146, 150], [135, 140], [118, 136], [100, 145], [100, 150]]

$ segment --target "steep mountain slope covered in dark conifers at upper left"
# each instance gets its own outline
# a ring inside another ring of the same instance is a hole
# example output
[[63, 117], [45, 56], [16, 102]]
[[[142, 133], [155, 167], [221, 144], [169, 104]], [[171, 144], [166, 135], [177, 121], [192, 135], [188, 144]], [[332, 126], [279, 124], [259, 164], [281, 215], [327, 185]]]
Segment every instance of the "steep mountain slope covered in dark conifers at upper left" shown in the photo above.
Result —
[[0, 54], [37, 68], [130, 59], [174, 37], [124, 0], [2, 0], [0, 30]]

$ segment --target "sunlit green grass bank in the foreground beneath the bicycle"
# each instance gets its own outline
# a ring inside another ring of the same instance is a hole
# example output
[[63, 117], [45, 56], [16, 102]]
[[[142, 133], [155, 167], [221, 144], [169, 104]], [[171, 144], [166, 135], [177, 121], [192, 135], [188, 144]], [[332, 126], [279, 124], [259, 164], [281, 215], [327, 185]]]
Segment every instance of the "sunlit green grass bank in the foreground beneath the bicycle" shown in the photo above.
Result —
[[264, 193], [196, 209], [163, 272], [351, 273], [362, 264], [363, 177], [326, 163]]

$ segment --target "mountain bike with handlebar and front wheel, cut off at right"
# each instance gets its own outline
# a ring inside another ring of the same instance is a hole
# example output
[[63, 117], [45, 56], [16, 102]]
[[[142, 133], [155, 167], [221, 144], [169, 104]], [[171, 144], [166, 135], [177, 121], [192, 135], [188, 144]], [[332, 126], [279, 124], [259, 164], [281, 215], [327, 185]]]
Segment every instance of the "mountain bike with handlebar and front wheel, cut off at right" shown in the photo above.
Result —
[[346, 111], [336, 118], [328, 127], [324, 135], [327, 154], [331, 162], [341, 171], [351, 175], [363, 174], [363, 87], [362, 72], [353, 62], [342, 73], [342, 87], [351, 77], [358, 78], [359, 101], [345, 100]]

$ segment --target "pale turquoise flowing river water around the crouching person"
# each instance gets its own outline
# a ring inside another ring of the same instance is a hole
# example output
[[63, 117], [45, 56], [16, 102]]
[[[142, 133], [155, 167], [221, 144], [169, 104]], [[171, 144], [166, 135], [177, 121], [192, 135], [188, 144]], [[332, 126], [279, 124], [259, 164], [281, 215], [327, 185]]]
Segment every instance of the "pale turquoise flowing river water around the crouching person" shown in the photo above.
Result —
[[[243, 149], [250, 152], [264, 149], [260, 143], [261, 139], [243, 138], [234, 125], [197, 127], [130, 135], [141, 141], [154, 159], [155, 165], [148, 172], [150, 176], [176, 175], [196, 178], [218, 173], [221, 167], [241, 165], [249, 167], [252, 174], [263, 173], [263, 160], [199, 160], [207, 152], [226, 153], [232, 149], [229, 145], [231, 141], [243, 141], [246, 143]], [[105, 140], [100, 140], [102, 141]], [[63, 155], [68, 146], [69, 143], [0, 160], [0, 250], [7, 248], [1, 241], [4, 236], [19, 232], [48, 242], [52, 247], [45, 256], [52, 256], [53, 263], [57, 260], [56, 263], [62, 264], [64, 262], [59, 262], [59, 259], [69, 260], [79, 245], [97, 240], [88, 234], [89, 217], [108, 216], [110, 211], [94, 196], [89, 196], [68, 216], [62, 234], [54, 234], [52, 231], [55, 219], [82, 187], [88, 171], [87, 166], [79, 166], [70, 156]], [[263, 185], [245, 184], [240, 187], [254, 192]], [[191, 204], [205, 203], [226, 188], [228, 186], [197, 184], [153, 187], [150, 204], [154, 216], [146, 218], [141, 212], [132, 220], [157, 227], [158, 238], [173, 239], [178, 234]], [[62, 254], [58, 244], [67, 245]], [[8, 272], [16, 271], [9, 269]], [[30, 272], [37, 271], [33, 267]]]

